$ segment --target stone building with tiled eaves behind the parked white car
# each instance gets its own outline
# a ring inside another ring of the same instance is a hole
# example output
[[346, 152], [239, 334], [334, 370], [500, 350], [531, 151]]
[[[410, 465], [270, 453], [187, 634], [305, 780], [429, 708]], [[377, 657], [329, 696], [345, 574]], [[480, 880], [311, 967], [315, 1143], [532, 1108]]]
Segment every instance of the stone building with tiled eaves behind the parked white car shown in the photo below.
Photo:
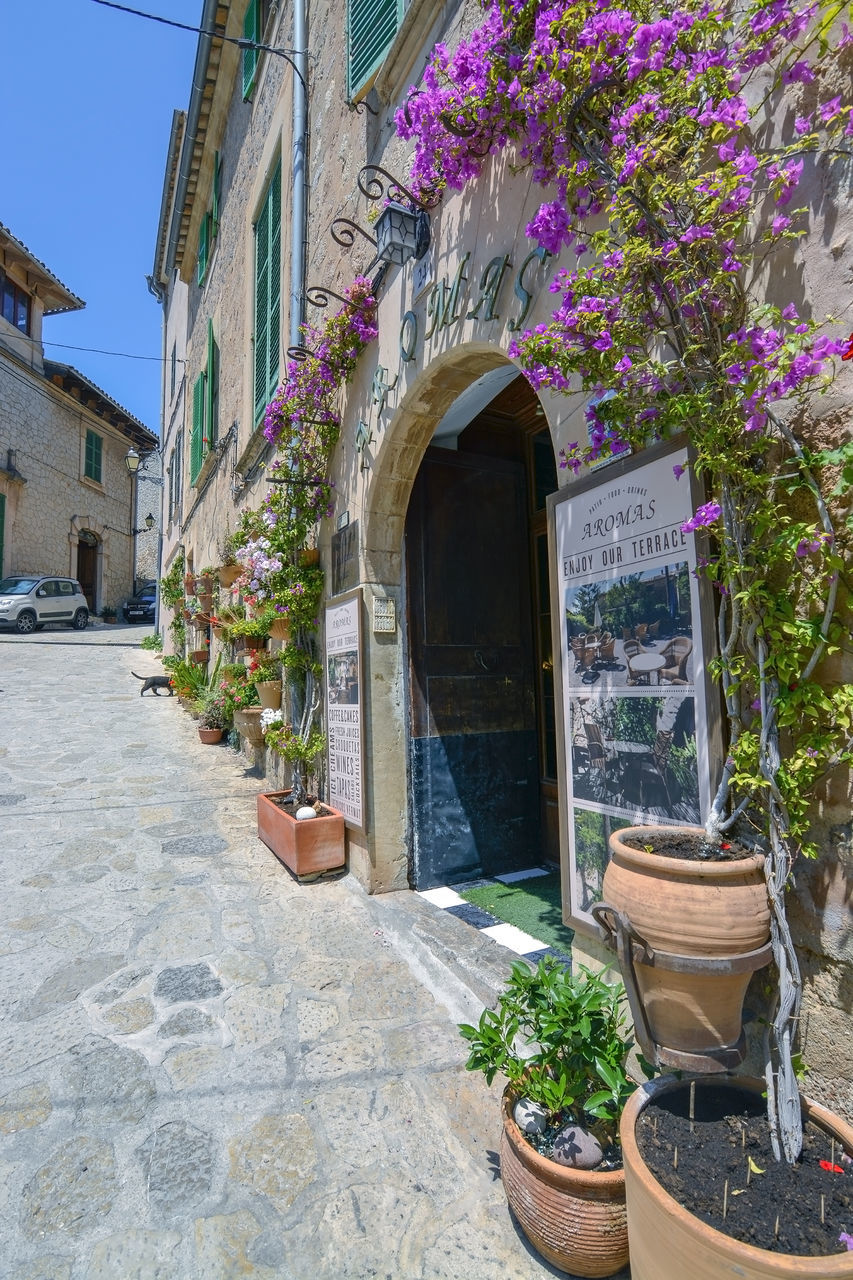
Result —
[[5, 227], [0, 291], [0, 572], [68, 573], [92, 613], [118, 608], [134, 589], [138, 520], [124, 458], [158, 438], [77, 369], [45, 360], [44, 317], [85, 303]]

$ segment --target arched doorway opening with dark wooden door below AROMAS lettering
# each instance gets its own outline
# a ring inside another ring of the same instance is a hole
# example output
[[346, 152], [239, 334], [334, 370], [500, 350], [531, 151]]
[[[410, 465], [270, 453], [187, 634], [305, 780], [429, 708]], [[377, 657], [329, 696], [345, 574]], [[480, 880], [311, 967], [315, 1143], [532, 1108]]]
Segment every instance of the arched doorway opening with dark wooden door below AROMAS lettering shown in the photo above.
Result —
[[447, 419], [448, 433], [439, 425], [423, 457], [405, 526], [415, 888], [558, 858], [551, 435], [521, 376], [460, 430]]

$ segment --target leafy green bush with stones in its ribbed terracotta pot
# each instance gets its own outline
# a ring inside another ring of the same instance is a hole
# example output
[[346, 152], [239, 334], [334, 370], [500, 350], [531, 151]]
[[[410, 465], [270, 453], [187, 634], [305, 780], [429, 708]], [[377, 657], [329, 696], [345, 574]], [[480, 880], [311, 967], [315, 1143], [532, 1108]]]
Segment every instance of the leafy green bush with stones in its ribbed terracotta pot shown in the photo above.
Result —
[[628, 1262], [619, 1117], [637, 1085], [621, 984], [546, 956], [512, 965], [497, 1009], [461, 1024], [467, 1069], [503, 1092], [501, 1178], [530, 1243], [578, 1276]]

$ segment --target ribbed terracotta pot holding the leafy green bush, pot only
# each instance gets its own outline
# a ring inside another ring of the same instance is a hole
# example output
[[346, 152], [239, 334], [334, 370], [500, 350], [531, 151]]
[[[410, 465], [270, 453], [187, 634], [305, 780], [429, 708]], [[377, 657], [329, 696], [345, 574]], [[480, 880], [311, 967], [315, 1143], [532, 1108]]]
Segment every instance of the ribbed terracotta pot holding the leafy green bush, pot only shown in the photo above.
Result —
[[521, 1230], [558, 1271], [613, 1275], [628, 1262], [624, 1171], [567, 1169], [540, 1156], [512, 1119], [514, 1103], [507, 1089], [501, 1179]]

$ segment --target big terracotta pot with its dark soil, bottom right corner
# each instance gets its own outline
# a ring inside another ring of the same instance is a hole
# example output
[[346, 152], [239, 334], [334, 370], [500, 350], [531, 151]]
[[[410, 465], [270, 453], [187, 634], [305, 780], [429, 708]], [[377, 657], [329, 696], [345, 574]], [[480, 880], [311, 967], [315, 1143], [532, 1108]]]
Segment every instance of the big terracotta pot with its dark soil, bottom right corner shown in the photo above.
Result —
[[853, 1128], [804, 1100], [803, 1157], [776, 1165], [763, 1091], [744, 1076], [669, 1075], [628, 1101], [633, 1280], [853, 1277]]

